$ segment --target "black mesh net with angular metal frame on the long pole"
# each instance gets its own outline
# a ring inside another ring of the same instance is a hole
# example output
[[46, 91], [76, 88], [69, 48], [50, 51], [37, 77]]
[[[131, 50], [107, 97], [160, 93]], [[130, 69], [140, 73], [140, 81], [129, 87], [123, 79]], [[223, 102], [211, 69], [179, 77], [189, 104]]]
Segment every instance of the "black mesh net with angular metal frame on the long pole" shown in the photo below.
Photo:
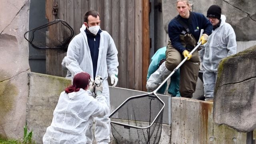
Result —
[[116, 144], [158, 144], [164, 102], [153, 93], [132, 96], [109, 118]]

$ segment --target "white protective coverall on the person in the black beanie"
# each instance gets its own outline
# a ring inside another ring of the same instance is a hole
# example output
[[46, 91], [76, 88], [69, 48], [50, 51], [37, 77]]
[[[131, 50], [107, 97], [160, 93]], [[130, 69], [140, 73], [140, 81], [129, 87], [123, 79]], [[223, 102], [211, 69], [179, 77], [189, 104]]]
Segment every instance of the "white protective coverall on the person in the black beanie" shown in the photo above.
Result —
[[213, 99], [217, 78], [217, 69], [222, 58], [236, 54], [236, 34], [232, 26], [226, 23], [226, 16], [221, 15], [221, 23], [212, 31], [208, 42], [199, 51], [202, 62], [204, 96]]

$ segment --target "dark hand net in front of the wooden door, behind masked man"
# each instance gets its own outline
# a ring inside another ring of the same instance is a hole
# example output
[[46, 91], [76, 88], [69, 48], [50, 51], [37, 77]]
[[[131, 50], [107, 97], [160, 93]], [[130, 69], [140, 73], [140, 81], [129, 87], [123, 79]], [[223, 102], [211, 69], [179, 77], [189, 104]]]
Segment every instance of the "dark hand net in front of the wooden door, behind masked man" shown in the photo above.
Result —
[[[39, 49], [68, 50], [68, 44], [74, 36], [74, 30], [64, 20], [54, 20], [38, 28], [29, 30], [24, 38]], [[42, 40], [45, 38], [45, 40]]]

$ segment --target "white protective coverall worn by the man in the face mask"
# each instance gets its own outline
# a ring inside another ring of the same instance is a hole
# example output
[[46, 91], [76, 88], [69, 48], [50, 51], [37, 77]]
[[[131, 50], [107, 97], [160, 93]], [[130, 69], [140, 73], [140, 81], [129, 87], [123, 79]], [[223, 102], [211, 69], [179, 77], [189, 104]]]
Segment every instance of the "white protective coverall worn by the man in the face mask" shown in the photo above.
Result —
[[[90, 77], [93, 78], [93, 66], [92, 58], [90, 54], [90, 48], [88, 46], [87, 36], [84, 30], [86, 27], [84, 24], [80, 28], [80, 33], [76, 35], [68, 45], [67, 56], [64, 58], [66, 68], [71, 72], [72, 79], [74, 75], [79, 72], [87, 72]], [[118, 51], [114, 44], [114, 40], [108, 34], [108, 32], [102, 30], [100, 33], [100, 47], [98, 55], [98, 63], [96, 76], [103, 78], [102, 95], [106, 96], [108, 107], [110, 106], [109, 100], [109, 88], [108, 88], [108, 76], [111, 74], [118, 75]], [[110, 142], [110, 118], [94, 118], [95, 121], [95, 138], [97, 142]], [[86, 131], [91, 131], [87, 130]], [[86, 132], [87, 141], [92, 141], [93, 137]], [[90, 138], [89, 138], [90, 137]]]

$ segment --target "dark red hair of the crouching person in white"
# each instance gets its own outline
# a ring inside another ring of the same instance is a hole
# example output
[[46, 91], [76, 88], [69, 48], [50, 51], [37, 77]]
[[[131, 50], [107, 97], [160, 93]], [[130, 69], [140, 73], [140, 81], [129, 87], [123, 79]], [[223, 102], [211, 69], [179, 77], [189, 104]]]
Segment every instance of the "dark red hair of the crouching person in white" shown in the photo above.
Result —
[[86, 72], [80, 72], [74, 76], [73, 85], [65, 88], [65, 92], [78, 92], [80, 88], [86, 89], [90, 80], [90, 75]]

